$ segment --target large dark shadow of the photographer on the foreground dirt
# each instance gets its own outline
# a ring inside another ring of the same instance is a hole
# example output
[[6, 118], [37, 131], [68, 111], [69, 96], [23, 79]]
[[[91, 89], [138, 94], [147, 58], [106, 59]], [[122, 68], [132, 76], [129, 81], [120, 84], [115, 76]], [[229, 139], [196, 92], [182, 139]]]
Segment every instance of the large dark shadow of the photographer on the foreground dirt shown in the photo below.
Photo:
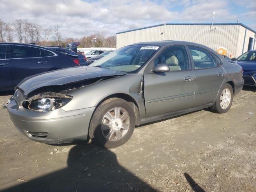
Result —
[[120, 166], [112, 151], [92, 144], [79, 144], [70, 150], [67, 168], [23, 182], [2, 192], [14, 191], [156, 192], [157, 190]]

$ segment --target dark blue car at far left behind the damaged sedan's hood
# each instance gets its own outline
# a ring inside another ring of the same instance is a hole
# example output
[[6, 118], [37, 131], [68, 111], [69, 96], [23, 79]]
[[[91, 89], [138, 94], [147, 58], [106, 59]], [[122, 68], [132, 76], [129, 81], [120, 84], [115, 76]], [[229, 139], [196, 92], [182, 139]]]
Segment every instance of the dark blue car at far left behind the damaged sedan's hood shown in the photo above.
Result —
[[79, 65], [77, 58], [21, 43], [0, 43], [0, 91], [14, 90], [28, 76]]

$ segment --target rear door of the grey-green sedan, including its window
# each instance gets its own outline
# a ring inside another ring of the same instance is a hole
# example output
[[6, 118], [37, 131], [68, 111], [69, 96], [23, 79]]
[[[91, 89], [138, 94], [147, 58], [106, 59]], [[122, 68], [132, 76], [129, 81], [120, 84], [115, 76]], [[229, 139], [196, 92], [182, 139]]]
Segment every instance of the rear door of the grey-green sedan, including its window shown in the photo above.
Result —
[[214, 102], [225, 80], [226, 72], [218, 56], [196, 46], [188, 46], [194, 64], [195, 102], [201, 106]]

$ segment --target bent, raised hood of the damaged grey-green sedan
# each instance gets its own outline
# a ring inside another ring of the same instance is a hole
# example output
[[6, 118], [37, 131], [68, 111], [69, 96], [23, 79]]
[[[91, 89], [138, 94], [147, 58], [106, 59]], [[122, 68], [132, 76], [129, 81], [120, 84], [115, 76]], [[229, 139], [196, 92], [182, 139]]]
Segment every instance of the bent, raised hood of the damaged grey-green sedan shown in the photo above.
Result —
[[79, 66], [27, 77], [16, 87], [23, 90], [24, 95], [28, 95], [33, 90], [44, 86], [64, 85], [92, 78], [120, 76], [125, 74], [127, 73], [106, 68]]

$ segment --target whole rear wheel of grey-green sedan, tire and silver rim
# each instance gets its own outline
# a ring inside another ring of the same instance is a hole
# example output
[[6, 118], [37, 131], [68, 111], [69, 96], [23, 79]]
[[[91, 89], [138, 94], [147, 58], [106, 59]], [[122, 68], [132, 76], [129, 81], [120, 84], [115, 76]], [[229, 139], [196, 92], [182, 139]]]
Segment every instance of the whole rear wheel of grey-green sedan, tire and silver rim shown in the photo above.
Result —
[[233, 102], [233, 88], [230, 84], [226, 83], [220, 89], [216, 101], [210, 109], [215, 113], [226, 113]]

